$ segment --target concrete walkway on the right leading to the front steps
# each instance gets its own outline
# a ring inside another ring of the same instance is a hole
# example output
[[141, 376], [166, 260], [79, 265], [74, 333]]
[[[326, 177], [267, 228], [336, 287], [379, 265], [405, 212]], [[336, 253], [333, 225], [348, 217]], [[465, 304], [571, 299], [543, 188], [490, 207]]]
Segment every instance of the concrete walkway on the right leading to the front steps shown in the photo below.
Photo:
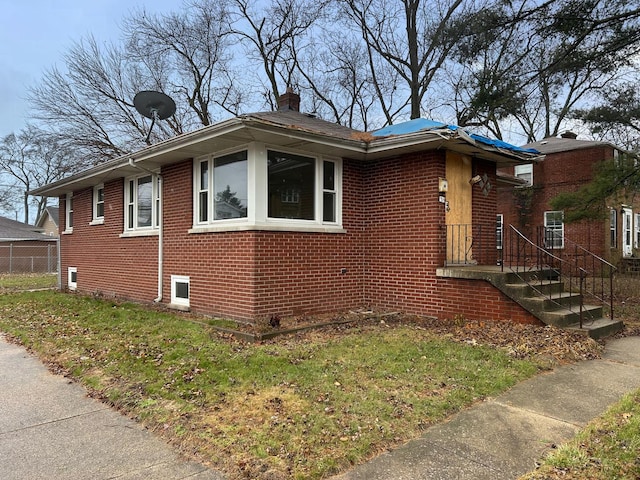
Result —
[[333, 480], [515, 479], [637, 388], [640, 337], [609, 340], [602, 359], [522, 382]]

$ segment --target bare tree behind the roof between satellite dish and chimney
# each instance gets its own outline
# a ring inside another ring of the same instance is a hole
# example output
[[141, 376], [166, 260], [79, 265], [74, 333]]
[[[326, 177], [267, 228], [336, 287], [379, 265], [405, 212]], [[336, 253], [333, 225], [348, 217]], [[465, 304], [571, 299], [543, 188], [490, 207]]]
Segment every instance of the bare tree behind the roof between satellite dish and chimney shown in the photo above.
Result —
[[139, 10], [124, 22], [128, 57], [145, 65], [152, 86], [188, 106], [181, 129], [210, 125], [216, 107], [237, 114], [243, 103], [232, 81], [228, 17], [226, 1], [197, 0], [165, 15]]

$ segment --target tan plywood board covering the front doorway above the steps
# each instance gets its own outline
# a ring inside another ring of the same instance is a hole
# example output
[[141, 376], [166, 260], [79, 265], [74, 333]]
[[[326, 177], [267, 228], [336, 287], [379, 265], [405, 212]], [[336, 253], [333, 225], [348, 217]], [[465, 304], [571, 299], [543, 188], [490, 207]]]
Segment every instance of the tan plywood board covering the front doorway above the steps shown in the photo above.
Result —
[[471, 172], [471, 157], [447, 152], [447, 265], [470, 263], [473, 259]]

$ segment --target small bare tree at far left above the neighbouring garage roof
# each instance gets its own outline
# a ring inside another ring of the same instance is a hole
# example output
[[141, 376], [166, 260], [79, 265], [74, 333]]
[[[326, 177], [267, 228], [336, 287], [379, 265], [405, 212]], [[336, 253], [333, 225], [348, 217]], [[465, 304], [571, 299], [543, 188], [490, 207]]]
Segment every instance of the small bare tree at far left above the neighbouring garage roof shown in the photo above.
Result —
[[19, 196], [21, 206], [16, 208], [14, 204], [14, 210], [22, 211], [24, 223], [29, 223], [30, 207], [35, 207], [37, 218], [47, 206], [47, 198], [30, 201], [27, 192], [84, 167], [86, 165], [50, 133], [27, 126], [17, 135], [12, 133], [0, 141], [0, 172], [7, 181], [4, 188], [0, 186], [0, 198]]

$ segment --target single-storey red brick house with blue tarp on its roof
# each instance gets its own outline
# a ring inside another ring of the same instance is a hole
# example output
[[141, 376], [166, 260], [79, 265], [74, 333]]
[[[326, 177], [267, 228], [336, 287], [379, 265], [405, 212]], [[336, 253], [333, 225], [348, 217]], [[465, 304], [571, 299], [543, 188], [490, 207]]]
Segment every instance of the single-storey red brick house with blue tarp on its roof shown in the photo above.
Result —
[[291, 96], [31, 192], [59, 197], [62, 287], [249, 322], [363, 307], [538, 322], [437, 274], [461, 224], [486, 237], [467, 258], [495, 265], [496, 166], [537, 152], [422, 119], [360, 132]]

